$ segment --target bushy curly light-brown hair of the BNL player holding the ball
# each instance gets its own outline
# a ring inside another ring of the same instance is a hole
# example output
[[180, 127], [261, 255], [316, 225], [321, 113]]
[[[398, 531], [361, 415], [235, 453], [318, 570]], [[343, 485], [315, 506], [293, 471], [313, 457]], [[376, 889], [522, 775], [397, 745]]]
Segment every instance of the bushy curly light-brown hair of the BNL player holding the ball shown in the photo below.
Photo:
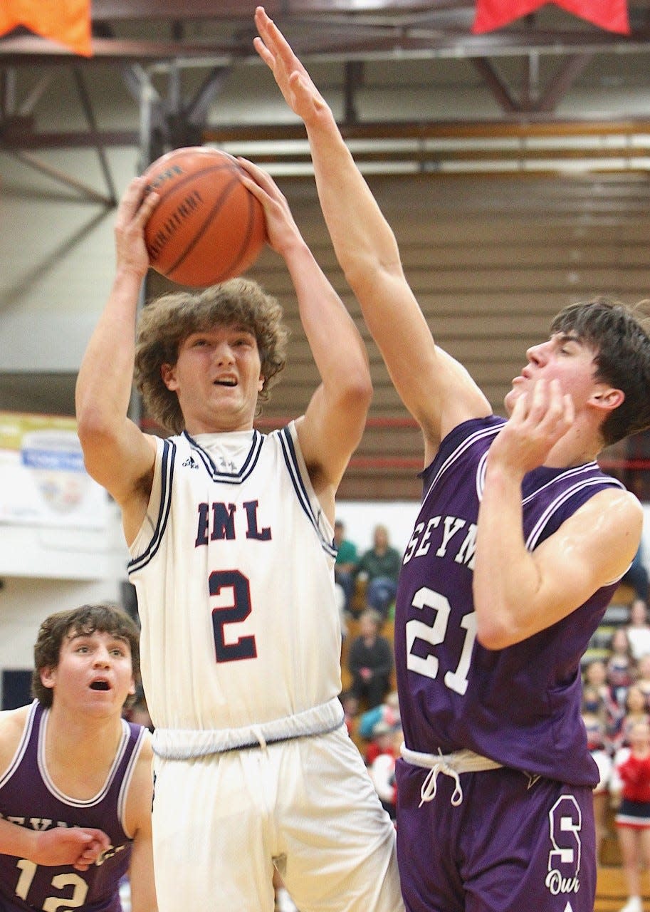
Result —
[[286, 359], [288, 331], [282, 321], [276, 299], [243, 278], [201, 292], [172, 292], [145, 306], [137, 328], [135, 382], [150, 416], [174, 434], [184, 429], [178, 397], [167, 389], [160, 371], [163, 364], [176, 364], [186, 338], [214, 326], [236, 325], [253, 333], [262, 364], [259, 399], [268, 399]]

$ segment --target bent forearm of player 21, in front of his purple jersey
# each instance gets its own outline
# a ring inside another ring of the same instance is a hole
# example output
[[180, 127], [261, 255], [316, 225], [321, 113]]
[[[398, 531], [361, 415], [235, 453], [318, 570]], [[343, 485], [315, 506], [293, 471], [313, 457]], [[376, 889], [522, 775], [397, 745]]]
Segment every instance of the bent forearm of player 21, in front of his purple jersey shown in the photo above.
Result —
[[485, 477], [476, 535], [473, 578], [477, 637], [490, 649], [529, 635], [541, 586], [538, 567], [523, 540], [521, 479], [501, 467]]

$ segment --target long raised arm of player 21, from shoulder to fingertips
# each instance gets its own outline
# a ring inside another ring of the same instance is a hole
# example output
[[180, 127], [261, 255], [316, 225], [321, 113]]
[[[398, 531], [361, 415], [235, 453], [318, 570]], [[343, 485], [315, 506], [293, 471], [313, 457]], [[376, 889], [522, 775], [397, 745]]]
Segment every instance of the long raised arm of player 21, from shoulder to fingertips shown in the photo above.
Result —
[[289, 107], [304, 120], [316, 187], [335, 254], [404, 404], [420, 424], [427, 458], [462, 420], [490, 414], [467, 371], [434, 345], [402, 269], [395, 235], [336, 126], [334, 115], [284, 36], [255, 12], [255, 48]]

